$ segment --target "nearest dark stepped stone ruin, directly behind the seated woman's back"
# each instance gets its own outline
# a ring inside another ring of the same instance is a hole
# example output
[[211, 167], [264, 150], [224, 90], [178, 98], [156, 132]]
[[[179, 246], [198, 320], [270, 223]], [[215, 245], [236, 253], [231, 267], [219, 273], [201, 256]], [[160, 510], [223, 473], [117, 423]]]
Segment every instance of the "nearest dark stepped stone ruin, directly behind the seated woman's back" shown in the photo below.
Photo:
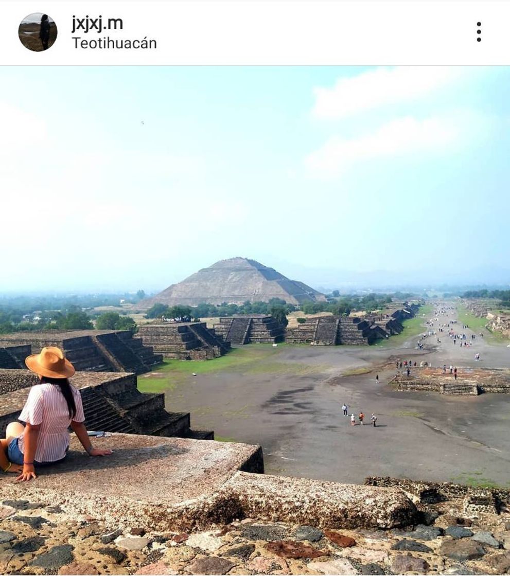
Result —
[[[38, 378], [28, 370], [0, 369], [0, 433], [16, 420]], [[71, 379], [82, 397], [88, 430], [210, 439], [212, 431], [190, 429], [188, 412], [167, 412], [164, 394], [142, 394], [137, 375], [77, 372]]]

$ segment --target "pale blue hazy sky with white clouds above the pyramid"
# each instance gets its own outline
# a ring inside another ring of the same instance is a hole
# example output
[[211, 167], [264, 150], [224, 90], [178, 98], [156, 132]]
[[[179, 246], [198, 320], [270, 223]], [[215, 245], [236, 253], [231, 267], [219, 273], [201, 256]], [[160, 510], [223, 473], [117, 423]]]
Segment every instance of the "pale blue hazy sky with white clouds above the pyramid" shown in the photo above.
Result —
[[157, 290], [232, 256], [313, 286], [510, 282], [508, 68], [2, 67], [0, 86], [0, 291]]

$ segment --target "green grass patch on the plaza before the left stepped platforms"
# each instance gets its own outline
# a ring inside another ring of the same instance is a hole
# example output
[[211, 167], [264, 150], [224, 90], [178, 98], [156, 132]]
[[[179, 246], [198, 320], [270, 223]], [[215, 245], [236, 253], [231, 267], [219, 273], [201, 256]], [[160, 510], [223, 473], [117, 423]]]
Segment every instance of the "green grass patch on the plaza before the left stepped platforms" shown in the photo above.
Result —
[[278, 362], [278, 354], [286, 344], [247, 344], [233, 348], [220, 358], [207, 361], [165, 360], [163, 365], [152, 371], [152, 375], [138, 377], [138, 389], [141, 392], [163, 392], [175, 390], [177, 386], [201, 374], [216, 372], [239, 372], [241, 374], [305, 374], [322, 372], [328, 366], [308, 365], [296, 362]]

